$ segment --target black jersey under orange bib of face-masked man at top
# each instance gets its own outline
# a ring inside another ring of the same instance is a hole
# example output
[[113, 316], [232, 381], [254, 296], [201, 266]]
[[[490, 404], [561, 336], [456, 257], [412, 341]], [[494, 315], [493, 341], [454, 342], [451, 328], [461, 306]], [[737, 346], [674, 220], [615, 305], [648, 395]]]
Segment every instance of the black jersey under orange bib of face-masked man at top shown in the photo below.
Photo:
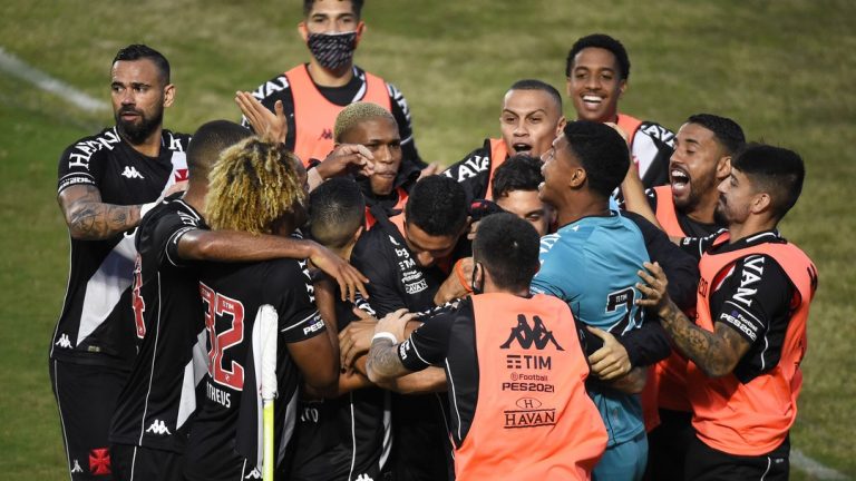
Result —
[[[362, 98], [366, 92], [364, 70], [354, 66], [353, 77], [347, 85], [342, 87], [318, 87], [318, 90], [324, 98], [338, 106], [344, 107], [353, 104], [354, 99]], [[387, 84], [387, 91], [389, 92], [389, 105], [392, 116], [396, 118], [396, 122], [398, 122], [398, 134], [401, 137], [401, 153], [403, 154], [405, 159], [403, 164], [414, 164], [419, 168], [425, 168], [426, 164], [419, 157], [419, 151], [416, 149], [414, 127], [410, 120], [410, 107], [407, 105], [407, 99], [405, 99], [401, 90], [397, 89], [392, 84]], [[285, 136], [285, 147], [289, 150], [293, 150], [296, 139], [296, 122], [294, 121], [294, 98], [291, 92], [289, 79], [284, 73], [280, 73], [260, 85], [253, 91], [253, 97], [259, 99], [259, 101], [271, 111], [273, 111], [273, 106], [276, 104], [276, 100], [282, 100], [285, 119], [289, 122], [289, 132]], [[250, 128], [246, 118], [242, 119], [242, 125]], [[330, 128], [332, 127], [333, 126], [330, 126]]]

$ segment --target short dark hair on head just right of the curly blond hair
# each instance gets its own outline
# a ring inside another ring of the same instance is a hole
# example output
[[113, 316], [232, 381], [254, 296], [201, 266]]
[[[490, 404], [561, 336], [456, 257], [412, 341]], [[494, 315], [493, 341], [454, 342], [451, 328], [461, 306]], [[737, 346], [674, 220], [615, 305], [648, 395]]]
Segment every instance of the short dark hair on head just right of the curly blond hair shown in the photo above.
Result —
[[309, 194], [309, 229], [324, 247], [344, 247], [364, 219], [366, 199], [353, 179], [333, 177]]

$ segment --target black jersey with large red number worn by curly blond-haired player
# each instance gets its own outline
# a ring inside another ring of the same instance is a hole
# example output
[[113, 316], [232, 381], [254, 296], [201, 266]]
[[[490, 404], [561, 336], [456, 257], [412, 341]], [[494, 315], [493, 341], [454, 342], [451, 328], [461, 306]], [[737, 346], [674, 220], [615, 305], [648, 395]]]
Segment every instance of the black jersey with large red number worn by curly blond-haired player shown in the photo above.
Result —
[[[278, 464], [294, 426], [298, 366], [286, 344], [325, 333], [314, 305], [305, 261], [207, 264], [201, 268], [208, 370], [193, 424], [185, 475], [192, 480], [239, 480], [261, 464], [261, 326], [255, 317], [271, 305], [279, 323], [275, 402]], [[325, 335], [325, 334], [324, 334]]]

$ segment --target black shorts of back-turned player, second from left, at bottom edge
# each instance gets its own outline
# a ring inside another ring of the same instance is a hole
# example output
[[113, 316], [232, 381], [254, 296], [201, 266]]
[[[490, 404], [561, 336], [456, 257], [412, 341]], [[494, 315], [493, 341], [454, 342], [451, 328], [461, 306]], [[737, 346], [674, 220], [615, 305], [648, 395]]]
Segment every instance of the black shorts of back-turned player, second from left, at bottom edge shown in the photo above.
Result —
[[116, 481], [184, 481], [184, 454], [127, 444], [111, 444]]

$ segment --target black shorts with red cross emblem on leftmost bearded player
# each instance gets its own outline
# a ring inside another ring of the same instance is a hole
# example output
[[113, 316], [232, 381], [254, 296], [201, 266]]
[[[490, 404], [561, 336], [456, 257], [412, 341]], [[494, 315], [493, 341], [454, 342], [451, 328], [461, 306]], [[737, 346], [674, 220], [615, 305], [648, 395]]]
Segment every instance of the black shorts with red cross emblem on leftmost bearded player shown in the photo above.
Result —
[[71, 480], [111, 480], [107, 435], [127, 372], [57, 360], [49, 371]]

